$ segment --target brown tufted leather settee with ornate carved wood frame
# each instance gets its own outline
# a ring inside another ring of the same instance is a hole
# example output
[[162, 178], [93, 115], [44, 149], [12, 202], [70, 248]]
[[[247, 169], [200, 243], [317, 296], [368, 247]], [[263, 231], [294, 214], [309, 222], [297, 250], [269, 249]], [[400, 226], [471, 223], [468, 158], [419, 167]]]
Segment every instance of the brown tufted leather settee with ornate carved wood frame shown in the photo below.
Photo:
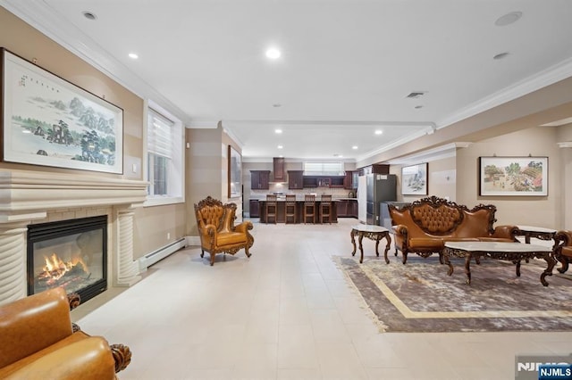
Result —
[[410, 252], [424, 258], [438, 253], [442, 262], [446, 242], [517, 242], [516, 226], [492, 227], [497, 210], [492, 204], [479, 204], [469, 210], [467, 206], [430, 196], [402, 208], [391, 204], [388, 207], [395, 254], [401, 251], [404, 264]]

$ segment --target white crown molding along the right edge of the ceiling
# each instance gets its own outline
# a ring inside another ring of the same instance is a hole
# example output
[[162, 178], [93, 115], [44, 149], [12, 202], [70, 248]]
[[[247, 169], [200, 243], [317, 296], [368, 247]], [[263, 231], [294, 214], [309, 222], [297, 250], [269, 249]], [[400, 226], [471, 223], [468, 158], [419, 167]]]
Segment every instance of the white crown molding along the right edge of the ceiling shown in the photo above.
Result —
[[459, 112], [455, 112], [449, 117], [439, 120], [436, 123], [437, 129], [449, 127], [451, 124], [460, 120], [465, 120], [478, 113], [488, 111], [503, 103], [510, 102], [520, 96], [530, 94], [571, 76], [572, 58], [568, 58], [567, 60], [559, 62], [546, 70], [542, 70], [509, 87], [505, 87], [492, 95], [485, 96], [481, 100], [461, 109]]

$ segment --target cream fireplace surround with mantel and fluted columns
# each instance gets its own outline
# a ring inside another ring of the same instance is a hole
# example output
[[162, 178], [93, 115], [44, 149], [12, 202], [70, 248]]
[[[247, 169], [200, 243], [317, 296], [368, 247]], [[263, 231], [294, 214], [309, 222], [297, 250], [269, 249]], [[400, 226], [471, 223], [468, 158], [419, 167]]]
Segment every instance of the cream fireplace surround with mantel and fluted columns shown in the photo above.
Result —
[[108, 286], [139, 281], [133, 211], [147, 182], [97, 175], [0, 170], [0, 305], [26, 297], [28, 225], [107, 215]]

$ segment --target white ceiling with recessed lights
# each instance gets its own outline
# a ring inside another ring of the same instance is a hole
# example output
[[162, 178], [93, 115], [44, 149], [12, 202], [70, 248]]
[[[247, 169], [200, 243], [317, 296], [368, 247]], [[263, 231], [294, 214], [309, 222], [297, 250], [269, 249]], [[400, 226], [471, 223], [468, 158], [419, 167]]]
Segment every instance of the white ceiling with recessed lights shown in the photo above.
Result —
[[222, 120], [245, 159], [362, 160], [572, 75], [570, 0], [0, 4], [189, 127]]

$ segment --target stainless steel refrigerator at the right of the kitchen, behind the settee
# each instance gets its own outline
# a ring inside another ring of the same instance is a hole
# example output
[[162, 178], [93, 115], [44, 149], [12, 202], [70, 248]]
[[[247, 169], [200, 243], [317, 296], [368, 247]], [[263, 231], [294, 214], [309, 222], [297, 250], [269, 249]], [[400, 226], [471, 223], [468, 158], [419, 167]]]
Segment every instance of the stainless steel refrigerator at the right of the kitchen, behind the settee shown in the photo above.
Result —
[[397, 201], [397, 176], [395, 174], [366, 175], [366, 223], [380, 226], [379, 203]]

